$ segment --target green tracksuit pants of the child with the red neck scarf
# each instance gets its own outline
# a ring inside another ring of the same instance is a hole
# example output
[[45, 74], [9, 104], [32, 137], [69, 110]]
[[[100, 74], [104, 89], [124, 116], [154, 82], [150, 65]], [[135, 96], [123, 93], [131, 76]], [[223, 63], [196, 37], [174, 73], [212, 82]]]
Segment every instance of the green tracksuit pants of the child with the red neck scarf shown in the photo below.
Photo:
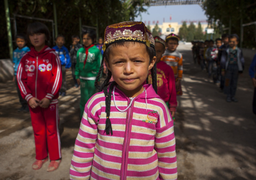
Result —
[[83, 117], [85, 104], [96, 92], [94, 82], [95, 80], [84, 80], [80, 78], [80, 91], [81, 91], [80, 118]]

